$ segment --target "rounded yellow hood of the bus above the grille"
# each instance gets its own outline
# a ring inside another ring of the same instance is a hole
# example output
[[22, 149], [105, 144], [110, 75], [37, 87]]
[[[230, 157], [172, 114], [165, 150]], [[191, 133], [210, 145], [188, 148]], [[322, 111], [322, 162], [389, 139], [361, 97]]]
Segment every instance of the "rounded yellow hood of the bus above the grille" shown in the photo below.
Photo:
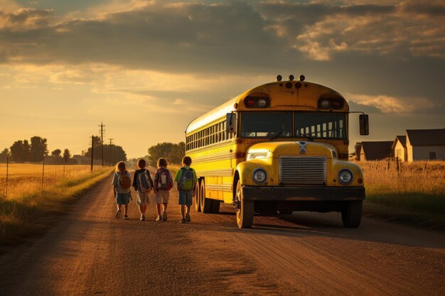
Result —
[[337, 149], [328, 143], [313, 141], [271, 141], [250, 146], [247, 160], [261, 158], [279, 158], [280, 156], [326, 156], [337, 158]]

